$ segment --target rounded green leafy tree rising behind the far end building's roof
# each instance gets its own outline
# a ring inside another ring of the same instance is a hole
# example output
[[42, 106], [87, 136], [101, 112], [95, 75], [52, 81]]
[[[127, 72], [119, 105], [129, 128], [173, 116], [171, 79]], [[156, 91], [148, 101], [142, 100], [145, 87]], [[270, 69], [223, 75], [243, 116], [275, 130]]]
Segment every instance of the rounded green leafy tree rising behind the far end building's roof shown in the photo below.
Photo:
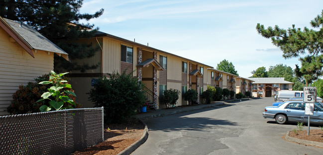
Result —
[[268, 71], [269, 78], [285, 78], [285, 80], [293, 82], [293, 69], [287, 65], [277, 64], [270, 66]]

